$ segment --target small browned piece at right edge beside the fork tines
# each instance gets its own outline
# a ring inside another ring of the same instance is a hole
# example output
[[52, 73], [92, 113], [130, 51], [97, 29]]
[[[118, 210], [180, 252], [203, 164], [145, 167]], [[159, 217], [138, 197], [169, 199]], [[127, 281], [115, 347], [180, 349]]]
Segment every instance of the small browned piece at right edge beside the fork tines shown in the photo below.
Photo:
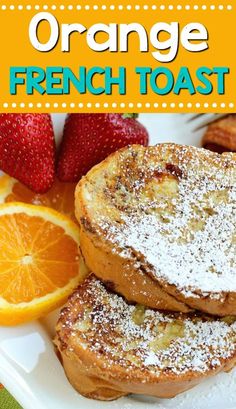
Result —
[[214, 152], [236, 152], [236, 114], [208, 126], [202, 139], [203, 148]]

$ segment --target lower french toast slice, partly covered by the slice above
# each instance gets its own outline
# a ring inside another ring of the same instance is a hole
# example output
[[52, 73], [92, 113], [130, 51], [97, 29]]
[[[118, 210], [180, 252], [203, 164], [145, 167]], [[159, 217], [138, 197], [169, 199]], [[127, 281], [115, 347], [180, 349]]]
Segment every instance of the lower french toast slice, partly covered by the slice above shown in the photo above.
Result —
[[236, 364], [236, 318], [129, 305], [93, 274], [61, 311], [55, 345], [82, 395], [174, 397]]

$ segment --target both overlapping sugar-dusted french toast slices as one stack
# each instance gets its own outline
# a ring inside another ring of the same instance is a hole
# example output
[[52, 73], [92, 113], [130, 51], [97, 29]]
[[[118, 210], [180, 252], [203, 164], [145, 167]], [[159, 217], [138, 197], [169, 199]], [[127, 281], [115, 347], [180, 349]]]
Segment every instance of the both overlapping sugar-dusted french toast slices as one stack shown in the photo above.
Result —
[[170, 398], [236, 364], [236, 157], [132, 145], [79, 182], [91, 273], [55, 344], [82, 395]]

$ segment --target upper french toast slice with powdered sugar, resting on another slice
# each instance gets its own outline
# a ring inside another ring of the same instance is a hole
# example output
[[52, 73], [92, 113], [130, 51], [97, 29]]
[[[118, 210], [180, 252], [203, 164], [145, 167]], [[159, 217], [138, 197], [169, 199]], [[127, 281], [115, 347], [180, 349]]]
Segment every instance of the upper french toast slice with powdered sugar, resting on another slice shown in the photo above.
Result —
[[236, 315], [236, 159], [133, 145], [79, 182], [75, 212], [91, 271], [151, 308]]

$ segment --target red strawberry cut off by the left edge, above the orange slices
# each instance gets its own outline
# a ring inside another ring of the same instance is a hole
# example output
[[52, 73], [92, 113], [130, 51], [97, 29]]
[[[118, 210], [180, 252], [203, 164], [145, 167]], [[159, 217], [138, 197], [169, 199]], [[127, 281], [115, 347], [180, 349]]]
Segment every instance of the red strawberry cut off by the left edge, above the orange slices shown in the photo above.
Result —
[[0, 169], [36, 193], [55, 176], [55, 140], [50, 115], [0, 114]]

